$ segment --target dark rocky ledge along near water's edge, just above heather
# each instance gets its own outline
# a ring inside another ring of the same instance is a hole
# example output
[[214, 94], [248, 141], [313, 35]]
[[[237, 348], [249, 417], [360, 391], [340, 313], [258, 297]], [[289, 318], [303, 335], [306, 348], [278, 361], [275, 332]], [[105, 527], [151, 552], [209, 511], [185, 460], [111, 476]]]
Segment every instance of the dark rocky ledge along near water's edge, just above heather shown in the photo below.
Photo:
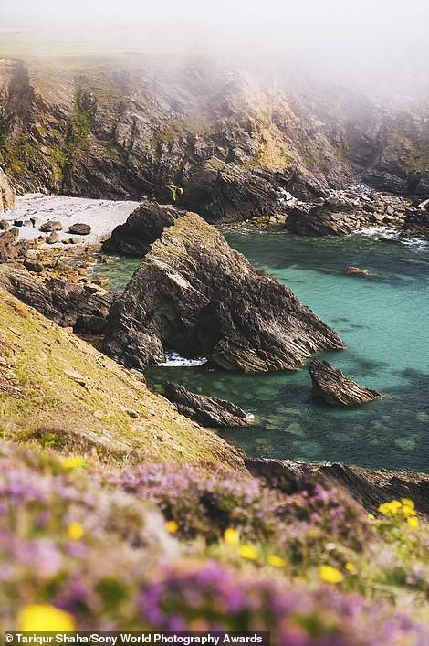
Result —
[[419, 514], [429, 516], [429, 474], [406, 471], [372, 471], [346, 464], [306, 464], [290, 460], [246, 459], [246, 468], [257, 478], [287, 492], [320, 482], [346, 489], [368, 512], [376, 513], [381, 503], [410, 498]]

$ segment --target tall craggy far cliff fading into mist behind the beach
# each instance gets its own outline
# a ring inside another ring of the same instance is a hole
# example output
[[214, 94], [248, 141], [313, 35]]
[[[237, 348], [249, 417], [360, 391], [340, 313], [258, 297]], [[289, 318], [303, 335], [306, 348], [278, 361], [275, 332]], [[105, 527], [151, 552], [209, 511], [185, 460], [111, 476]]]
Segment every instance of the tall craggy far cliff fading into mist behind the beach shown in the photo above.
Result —
[[[344, 88], [208, 61], [0, 60], [0, 161], [22, 191], [153, 194], [226, 220], [228, 167], [244, 218], [279, 190], [307, 199], [365, 181], [424, 196], [428, 150], [424, 107], [381, 108]], [[220, 185], [211, 159], [226, 164]]]

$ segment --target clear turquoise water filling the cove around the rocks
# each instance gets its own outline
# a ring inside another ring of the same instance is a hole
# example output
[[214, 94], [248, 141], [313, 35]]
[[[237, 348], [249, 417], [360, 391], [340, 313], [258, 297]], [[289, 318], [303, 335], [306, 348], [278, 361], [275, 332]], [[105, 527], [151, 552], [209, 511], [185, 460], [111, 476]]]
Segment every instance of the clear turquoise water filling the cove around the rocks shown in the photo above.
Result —
[[[227, 238], [341, 334], [347, 350], [320, 357], [387, 397], [363, 408], [315, 403], [307, 367], [243, 375], [208, 365], [157, 366], [147, 371], [152, 385], [161, 391], [163, 380], [176, 380], [253, 413], [255, 425], [220, 432], [250, 456], [429, 471], [429, 245], [378, 234]], [[98, 270], [119, 290], [137, 264], [120, 259]], [[348, 265], [371, 277], [345, 275]]]

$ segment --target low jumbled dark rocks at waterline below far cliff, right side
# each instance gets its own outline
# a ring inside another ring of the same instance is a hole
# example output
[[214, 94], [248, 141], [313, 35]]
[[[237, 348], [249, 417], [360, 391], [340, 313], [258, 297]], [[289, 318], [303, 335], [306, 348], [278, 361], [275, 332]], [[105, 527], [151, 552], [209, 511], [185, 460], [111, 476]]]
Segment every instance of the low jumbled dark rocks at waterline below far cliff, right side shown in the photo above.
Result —
[[403, 224], [406, 200], [366, 191], [334, 191], [317, 203], [288, 209], [286, 226], [291, 233], [309, 236], [347, 235], [363, 227]]

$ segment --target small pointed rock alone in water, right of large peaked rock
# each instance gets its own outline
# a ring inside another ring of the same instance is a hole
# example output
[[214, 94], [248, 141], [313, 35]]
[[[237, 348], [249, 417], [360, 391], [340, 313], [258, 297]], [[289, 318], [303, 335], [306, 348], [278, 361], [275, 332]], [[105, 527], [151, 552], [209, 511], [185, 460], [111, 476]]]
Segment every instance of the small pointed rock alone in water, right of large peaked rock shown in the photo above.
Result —
[[376, 390], [359, 386], [327, 361], [312, 361], [309, 374], [314, 396], [332, 406], [361, 406], [382, 397]]

